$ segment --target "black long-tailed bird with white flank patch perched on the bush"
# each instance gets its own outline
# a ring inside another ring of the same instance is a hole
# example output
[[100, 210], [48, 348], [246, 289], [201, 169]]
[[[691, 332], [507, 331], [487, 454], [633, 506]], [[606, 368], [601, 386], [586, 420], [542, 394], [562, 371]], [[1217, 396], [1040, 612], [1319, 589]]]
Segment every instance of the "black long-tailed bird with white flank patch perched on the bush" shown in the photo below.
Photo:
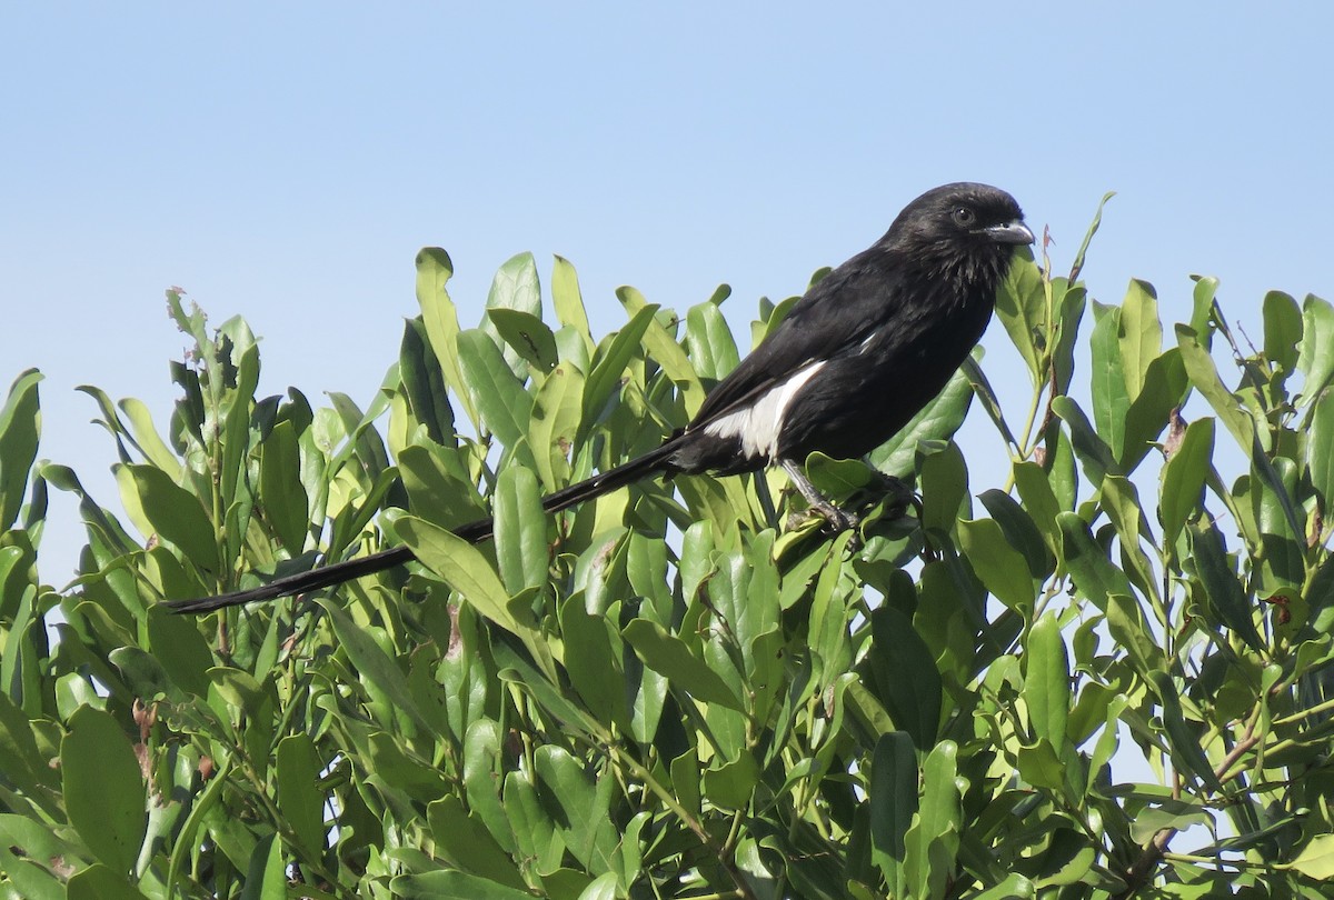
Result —
[[[1019, 204], [1005, 191], [972, 183], [927, 191], [880, 240], [807, 291], [686, 428], [650, 453], [548, 495], [543, 508], [567, 509], [655, 473], [736, 475], [776, 463], [811, 508], [848, 527], [851, 517], [806, 477], [806, 457], [864, 456], [930, 403], [986, 331], [1015, 245], [1031, 243]], [[479, 543], [492, 527], [483, 519], [455, 533]], [[168, 605], [208, 612], [271, 600], [411, 559], [408, 548], [396, 547]]]

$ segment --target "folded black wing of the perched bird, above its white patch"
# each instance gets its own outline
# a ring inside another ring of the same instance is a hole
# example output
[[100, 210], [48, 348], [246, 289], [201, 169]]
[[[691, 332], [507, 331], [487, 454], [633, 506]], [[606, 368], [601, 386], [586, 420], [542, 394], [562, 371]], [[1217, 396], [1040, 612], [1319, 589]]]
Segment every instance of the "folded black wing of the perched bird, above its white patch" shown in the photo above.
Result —
[[854, 351], [872, 332], [892, 325], [898, 277], [870, 251], [826, 275], [787, 317], [708, 392], [687, 431], [742, 409], [807, 363]]

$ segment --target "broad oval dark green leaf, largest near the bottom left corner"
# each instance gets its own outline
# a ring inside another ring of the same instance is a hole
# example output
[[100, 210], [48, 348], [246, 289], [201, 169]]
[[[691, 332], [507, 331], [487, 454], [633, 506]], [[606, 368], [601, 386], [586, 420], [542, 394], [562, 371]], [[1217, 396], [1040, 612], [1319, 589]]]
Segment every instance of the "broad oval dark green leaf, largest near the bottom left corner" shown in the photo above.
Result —
[[60, 741], [65, 809], [84, 844], [119, 873], [129, 872], [148, 828], [148, 791], [135, 749], [108, 713], [80, 707]]

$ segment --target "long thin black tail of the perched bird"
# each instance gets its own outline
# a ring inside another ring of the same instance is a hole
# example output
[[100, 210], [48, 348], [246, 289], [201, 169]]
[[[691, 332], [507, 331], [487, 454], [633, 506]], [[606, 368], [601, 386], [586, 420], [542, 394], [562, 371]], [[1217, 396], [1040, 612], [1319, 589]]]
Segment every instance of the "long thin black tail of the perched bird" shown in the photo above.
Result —
[[[571, 484], [570, 487], [562, 488], [554, 493], [548, 493], [542, 499], [542, 508], [548, 513], [560, 512], [562, 509], [568, 509], [570, 507], [580, 504], [586, 500], [594, 500], [604, 493], [615, 491], [616, 488], [639, 481], [640, 479], [663, 471], [667, 468], [667, 457], [678, 449], [678, 445], [679, 437], [667, 440], [658, 449], [632, 459], [628, 463], [607, 469], [606, 472], [599, 472], [590, 479]], [[454, 529], [454, 533], [470, 544], [480, 544], [491, 537], [494, 528], [494, 519], [478, 519], [476, 521], [459, 525]], [[362, 556], [355, 560], [334, 563], [332, 565], [321, 565], [311, 569], [309, 572], [299, 572], [296, 575], [275, 579], [273, 581], [257, 588], [232, 591], [231, 593], [220, 593], [197, 600], [168, 600], [165, 605], [168, 605], [172, 612], [212, 612], [213, 609], [239, 607], [245, 603], [275, 600], [277, 597], [289, 597], [296, 593], [317, 591], [334, 584], [342, 584], [343, 581], [359, 579], [364, 575], [383, 572], [384, 569], [391, 569], [395, 565], [403, 565], [411, 560], [412, 551], [407, 547], [394, 547], [391, 549], [371, 553], [370, 556]]]

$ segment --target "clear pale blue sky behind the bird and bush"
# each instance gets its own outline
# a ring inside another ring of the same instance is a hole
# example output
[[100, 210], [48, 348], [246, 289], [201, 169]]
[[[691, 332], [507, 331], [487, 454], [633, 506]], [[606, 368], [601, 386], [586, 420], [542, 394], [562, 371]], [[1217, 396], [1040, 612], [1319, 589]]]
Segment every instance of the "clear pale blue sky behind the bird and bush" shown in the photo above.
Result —
[[[1193, 272], [1243, 323], [1269, 288], [1334, 295], [1331, 8], [1070, 5], [7, 4], [0, 379], [45, 372], [41, 456], [108, 504], [73, 388], [165, 421], [168, 285], [249, 320], [265, 392], [366, 403], [422, 245], [452, 255], [466, 323], [532, 251], [575, 263], [598, 332], [619, 284], [684, 308], [727, 281], [744, 333], [760, 295], [964, 179], [1050, 225], [1061, 267], [1118, 191], [1086, 269], [1107, 301], [1146, 277], [1185, 317]], [[1005, 341], [1002, 400], [1026, 385]], [[81, 531], [53, 515], [63, 584]]]

